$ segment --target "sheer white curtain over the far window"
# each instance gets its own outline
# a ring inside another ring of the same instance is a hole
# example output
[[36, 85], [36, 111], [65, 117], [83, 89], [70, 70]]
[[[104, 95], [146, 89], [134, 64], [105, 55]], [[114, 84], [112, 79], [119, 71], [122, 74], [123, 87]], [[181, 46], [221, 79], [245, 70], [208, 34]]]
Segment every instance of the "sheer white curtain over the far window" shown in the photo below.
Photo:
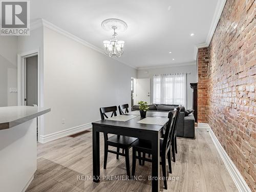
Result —
[[186, 108], [186, 74], [155, 75], [153, 103], [180, 104]]

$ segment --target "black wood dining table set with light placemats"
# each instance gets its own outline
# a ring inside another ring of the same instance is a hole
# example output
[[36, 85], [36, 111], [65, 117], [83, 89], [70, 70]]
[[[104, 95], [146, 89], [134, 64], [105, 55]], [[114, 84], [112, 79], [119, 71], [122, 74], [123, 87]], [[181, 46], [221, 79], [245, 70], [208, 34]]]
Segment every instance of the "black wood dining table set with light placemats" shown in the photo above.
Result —
[[[132, 115], [138, 112], [131, 112]], [[160, 117], [166, 118], [168, 112], [153, 112], [147, 111], [146, 117]], [[125, 115], [125, 114], [124, 114]], [[100, 181], [100, 144], [99, 133], [109, 133], [123, 136], [136, 137], [145, 139], [152, 142], [152, 191], [159, 191], [159, 167], [160, 167], [160, 138], [162, 136], [163, 127], [166, 125], [153, 125], [137, 123], [142, 118], [137, 115], [135, 118], [127, 121], [113, 121], [113, 120], [100, 120], [93, 122], [93, 178], [94, 182]], [[167, 122], [166, 122], [167, 123]]]

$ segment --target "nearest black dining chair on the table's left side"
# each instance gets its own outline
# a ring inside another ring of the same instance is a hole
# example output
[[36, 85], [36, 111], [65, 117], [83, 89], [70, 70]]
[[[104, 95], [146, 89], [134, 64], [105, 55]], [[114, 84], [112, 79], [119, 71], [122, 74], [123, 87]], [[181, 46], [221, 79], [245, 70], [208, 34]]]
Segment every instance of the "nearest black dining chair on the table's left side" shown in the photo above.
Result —
[[[101, 120], [108, 119], [109, 117], [106, 113], [110, 113], [111, 117], [117, 116], [116, 114], [117, 106], [109, 106], [106, 108], [100, 108], [100, 116]], [[106, 162], [108, 160], [108, 153], [116, 154], [116, 159], [119, 159], [120, 156], [125, 157], [125, 164], [126, 164], [126, 173], [127, 176], [130, 178], [130, 156], [129, 156], [129, 149], [132, 147], [132, 143], [136, 141], [137, 138], [134, 137], [126, 137], [121, 135], [113, 135], [108, 137], [108, 134], [104, 133], [104, 166], [103, 168], [106, 169]], [[117, 147], [117, 151], [109, 150], [109, 146]], [[122, 153], [119, 152], [120, 148], [123, 150]]]

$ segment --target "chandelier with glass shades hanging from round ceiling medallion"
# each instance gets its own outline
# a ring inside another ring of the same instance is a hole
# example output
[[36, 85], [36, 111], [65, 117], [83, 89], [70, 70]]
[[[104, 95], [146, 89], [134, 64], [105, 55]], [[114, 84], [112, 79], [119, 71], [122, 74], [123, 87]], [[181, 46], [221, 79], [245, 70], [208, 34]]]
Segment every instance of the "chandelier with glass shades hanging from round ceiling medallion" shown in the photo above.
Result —
[[110, 19], [103, 20], [103, 22], [101, 23], [101, 26], [105, 30], [114, 31], [112, 35], [112, 39], [103, 41], [104, 53], [110, 57], [113, 57], [113, 56], [120, 57], [124, 52], [124, 49], [123, 49], [124, 41], [116, 39], [116, 36], [117, 36], [116, 30], [118, 31], [126, 30], [127, 24], [123, 20], [110, 18]]

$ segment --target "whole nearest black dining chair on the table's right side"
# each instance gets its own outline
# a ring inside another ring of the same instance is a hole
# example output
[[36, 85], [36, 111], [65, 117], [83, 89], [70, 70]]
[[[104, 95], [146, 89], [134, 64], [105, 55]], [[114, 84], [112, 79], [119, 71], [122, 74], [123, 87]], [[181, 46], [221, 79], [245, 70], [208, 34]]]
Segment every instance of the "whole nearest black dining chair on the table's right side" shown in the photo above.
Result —
[[[164, 188], [167, 189], [167, 181], [166, 181], [166, 156], [168, 158], [169, 170], [172, 170], [171, 167], [171, 157], [170, 157], [170, 140], [172, 139], [172, 133], [174, 133], [174, 121], [177, 114], [177, 110], [170, 111], [168, 113], [168, 122], [166, 126], [166, 131], [163, 139], [160, 139], [160, 157], [163, 172], [163, 181]], [[152, 154], [152, 146], [151, 142], [147, 140], [138, 139], [133, 144], [133, 167], [132, 167], [132, 177], [135, 175], [136, 169], [136, 159], [141, 159], [142, 161], [152, 162], [152, 159], [148, 159], [145, 157], [145, 154]], [[136, 153], [138, 152], [138, 156]], [[140, 153], [143, 153], [143, 157], [140, 156]], [[171, 173], [171, 172], [170, 172]]]

